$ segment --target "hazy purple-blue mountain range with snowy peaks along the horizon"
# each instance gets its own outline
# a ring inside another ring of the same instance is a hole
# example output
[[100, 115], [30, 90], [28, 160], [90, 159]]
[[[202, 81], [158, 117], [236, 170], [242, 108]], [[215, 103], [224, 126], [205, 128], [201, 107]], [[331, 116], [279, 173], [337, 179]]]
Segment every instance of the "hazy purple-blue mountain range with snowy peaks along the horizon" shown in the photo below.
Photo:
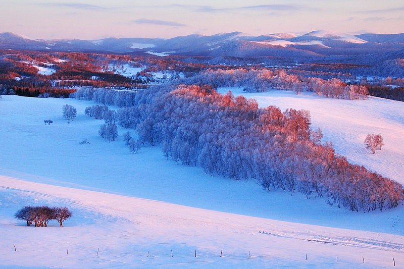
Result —
[[[400, 45], [400, 43], [403, 43]], [[382, 46], [382, 47], [381, 47]], [[215, 35], [191, 34], [164, 38], [32, 39], [15, 33], [0, 33], [0, 49], [114, 53], [161, 53], [187, 56], [282, 56], [310, 57], [332, 54], [324, 49], [404, 48], [404, 34], [349, 35], [312, 31], [304, 35], [275, 33], [252, 36], [242, 32]]]

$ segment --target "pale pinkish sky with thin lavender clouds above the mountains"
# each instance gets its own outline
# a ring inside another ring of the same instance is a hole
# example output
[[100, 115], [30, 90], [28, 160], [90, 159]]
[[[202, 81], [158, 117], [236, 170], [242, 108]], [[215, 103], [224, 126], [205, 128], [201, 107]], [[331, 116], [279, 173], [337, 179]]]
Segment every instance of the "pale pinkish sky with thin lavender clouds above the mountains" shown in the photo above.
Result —
[[0, 32], [32, 38], [403, 33], [402, 0], [0, 0]]

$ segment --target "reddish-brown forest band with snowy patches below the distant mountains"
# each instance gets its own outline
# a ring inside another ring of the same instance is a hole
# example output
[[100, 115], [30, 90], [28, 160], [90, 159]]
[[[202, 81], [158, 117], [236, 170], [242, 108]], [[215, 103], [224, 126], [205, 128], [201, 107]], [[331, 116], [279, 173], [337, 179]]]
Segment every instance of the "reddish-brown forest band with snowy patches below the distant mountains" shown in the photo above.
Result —
[[[394, 65], [400, 66], [400, 63]], [[41, 68], [45, 71], [40, 71]], [[281, 61], [279, 57], [163, 58], [0, 50], [0, 92], [31, 97], [68, 97], [82, 86], [141, 90], [175, 80], [177, 84], [214, 88], [241, 86], [245, 91], [309, 91], [345, 99], [365, 99], [367, 95], [373, 95], [404, 101], [403, 78], [364, 76], [366, 68], [370, 67], [337, 60], [300, 64], [291, 59]], [[139, 71], [125, 74], [128, 69]], [[164, 72], [163, 78], [157, 79], [156, 72]]]

